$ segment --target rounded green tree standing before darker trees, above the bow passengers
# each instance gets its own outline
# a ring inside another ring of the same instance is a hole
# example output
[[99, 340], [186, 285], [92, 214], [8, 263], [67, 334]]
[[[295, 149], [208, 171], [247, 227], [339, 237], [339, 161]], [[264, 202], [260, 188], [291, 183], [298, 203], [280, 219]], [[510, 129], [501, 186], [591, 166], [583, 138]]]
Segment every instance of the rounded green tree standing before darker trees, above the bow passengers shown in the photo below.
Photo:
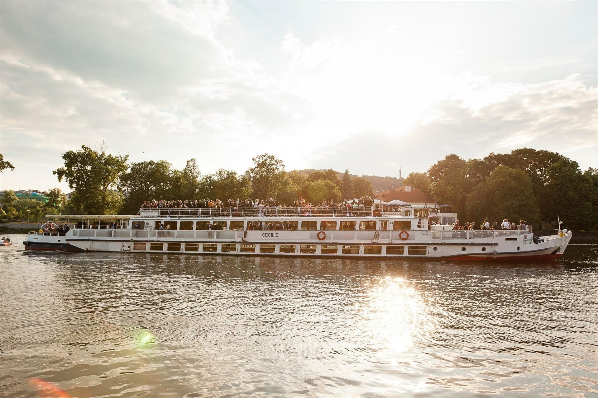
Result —
[[467, 195], [466, 213], [468, 220], [476, 223], [486, 218], [500, 224], [508, 218], [516, 224], [520, 219], [533, 224], [540, 219], [532, 180], [521, 170], [508, 166], [499, 166]]

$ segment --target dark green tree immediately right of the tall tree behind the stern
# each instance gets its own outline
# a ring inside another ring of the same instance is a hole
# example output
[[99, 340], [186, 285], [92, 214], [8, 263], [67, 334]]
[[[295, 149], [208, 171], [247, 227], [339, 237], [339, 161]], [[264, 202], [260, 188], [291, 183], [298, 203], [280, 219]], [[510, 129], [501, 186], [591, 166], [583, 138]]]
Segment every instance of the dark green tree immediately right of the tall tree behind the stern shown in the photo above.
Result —
[[146, 200], [170, 199], [171, 174], [172, 165], [165, 160], [131, 163], [118, 182], [125, 194], [123, 212], [137, 213]]

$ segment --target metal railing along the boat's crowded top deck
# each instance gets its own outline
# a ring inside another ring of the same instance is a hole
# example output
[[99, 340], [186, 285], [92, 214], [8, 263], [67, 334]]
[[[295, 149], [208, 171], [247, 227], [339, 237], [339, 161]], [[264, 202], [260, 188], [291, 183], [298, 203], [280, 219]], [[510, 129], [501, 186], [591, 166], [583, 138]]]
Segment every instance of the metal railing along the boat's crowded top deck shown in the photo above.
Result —
[[139, 216], [161, 218], [218, 217], [371, 217], [378, 214], [373, 207], [210, 207], [192, 209], [139, 209]]

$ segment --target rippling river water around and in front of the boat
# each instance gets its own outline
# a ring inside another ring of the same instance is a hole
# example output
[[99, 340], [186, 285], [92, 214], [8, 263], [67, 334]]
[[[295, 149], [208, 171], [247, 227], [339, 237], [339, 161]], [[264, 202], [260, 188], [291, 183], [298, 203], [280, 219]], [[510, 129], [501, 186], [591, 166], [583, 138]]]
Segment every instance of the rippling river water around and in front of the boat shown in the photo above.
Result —
[[0, 396], [598, 394], [598, 244], [531, 264], [0, 248]]

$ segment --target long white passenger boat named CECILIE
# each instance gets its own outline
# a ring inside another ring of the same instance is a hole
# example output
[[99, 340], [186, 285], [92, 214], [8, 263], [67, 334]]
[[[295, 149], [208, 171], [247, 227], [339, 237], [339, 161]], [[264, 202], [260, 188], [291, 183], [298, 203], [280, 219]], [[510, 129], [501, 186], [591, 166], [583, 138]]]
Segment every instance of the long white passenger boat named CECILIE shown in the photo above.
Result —
[[[26, 250], [185, 253], [236, 256], [538, 260], [559, 258], [572, 233], [534, 237], [523, 230], [453, 231], [429, 225], [443, 213], [425, 206], [306, 210], [141, 209], [138, 215], [50, 215], [29, 232]], [[71, 225], [66, 234], [57, 224]]]

